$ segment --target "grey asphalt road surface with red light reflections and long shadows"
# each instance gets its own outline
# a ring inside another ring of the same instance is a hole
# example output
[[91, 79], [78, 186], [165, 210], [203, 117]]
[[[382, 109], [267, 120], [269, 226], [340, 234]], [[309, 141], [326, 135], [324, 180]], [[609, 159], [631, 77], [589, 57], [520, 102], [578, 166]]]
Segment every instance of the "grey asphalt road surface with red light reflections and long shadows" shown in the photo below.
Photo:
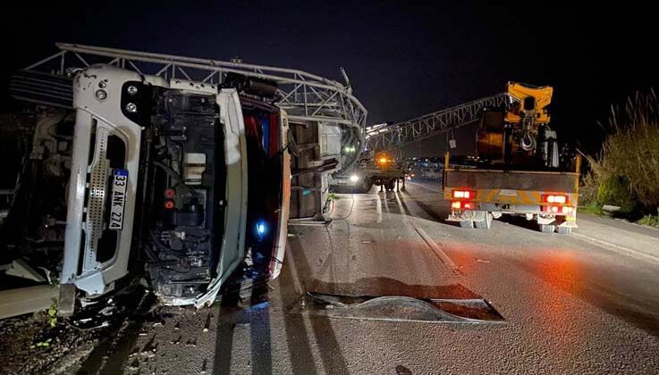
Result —
[[[329, 226], [291, 229], [265, 302], [163, 308], [93, 371], [659, 373], [659, 231], [587, 215], [567, 236], [524, 220], [461, 229], [435, 190], [339, 196]], [[336, 317], [305, 292], [480, 299], [504, 321], [396, 321], [424, 313], [386, 306]]]

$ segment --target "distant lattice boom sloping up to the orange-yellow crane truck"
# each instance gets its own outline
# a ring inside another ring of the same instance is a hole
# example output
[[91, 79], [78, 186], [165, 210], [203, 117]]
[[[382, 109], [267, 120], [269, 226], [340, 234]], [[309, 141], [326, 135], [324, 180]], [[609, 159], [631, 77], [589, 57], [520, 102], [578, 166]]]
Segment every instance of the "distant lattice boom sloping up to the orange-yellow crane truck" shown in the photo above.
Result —
[[457, 129], [477, 121], [477, 116], [483, 108], [508, 105], [512, 101], [517, 101], [517, 99], [508, 94], [487, 96], [416, 119], [368, 130], [366, 132], [367, 148], [368, 150], [388, 150], [433, 137], [444, 131]]

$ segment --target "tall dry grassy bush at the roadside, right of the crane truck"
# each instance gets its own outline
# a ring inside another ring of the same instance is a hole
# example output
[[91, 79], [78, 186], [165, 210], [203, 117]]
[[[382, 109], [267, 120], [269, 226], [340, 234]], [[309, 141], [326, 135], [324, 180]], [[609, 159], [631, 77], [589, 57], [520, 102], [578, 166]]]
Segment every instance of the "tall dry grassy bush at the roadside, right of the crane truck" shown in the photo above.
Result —
[[659, 102], [651, 91], [629, 98], [622, 108], [613, 107], [611, 134], [604, 140], [600, 154], [587, 156], [592, 174], [584, 179], [583, 199], [585, 203], [619, 205], [625, 215], [656, 212]]

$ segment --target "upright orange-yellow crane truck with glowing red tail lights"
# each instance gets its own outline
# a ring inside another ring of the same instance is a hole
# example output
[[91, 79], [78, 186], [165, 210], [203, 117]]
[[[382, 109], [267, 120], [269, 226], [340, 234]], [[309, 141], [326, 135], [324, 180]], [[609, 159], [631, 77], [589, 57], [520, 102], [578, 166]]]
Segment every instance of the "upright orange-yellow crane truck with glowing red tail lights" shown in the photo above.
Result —
[[536, 221], [545, 233], [577, 228], [580, 158], [561, 165], [547, 105], [553, 87], [509, 82], [511, 101], [485, 108], [477, 131], [475, 165], [457, 166], [445, 154], [444, 198], [448, 221], [489, 229], [503, 214]]

